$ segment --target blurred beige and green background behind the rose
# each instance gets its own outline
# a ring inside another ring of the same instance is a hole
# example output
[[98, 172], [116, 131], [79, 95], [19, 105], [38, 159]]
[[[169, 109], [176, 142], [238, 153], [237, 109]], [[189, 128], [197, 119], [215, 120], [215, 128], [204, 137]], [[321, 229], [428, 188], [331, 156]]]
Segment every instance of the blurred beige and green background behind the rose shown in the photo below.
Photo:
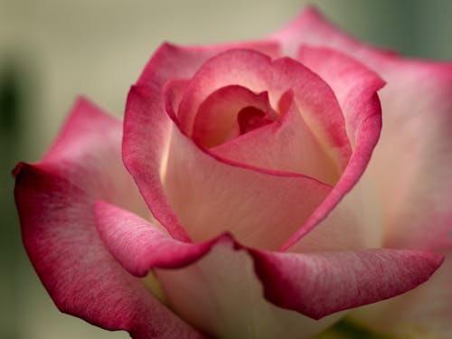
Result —
[[[62, 315], [26, 258], [11, 169], [50, 145], [77, 95], [122, 116], [127, 90], [163, 41], [257, 39], [300, 0], [0, 0], [0, 338], [127, 338]], [[452, 60], [452, 2], [311, 1], [353, 35]]]

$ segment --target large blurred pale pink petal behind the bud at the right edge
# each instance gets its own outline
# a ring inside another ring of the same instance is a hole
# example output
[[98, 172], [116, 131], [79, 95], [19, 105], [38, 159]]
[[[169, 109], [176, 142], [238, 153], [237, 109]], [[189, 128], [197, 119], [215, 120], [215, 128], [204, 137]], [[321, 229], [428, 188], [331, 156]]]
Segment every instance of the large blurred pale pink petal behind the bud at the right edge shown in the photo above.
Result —
[[[379, 200], [384, 202], [384, 245], [450, 252], [452, 64], [404, 59], [366, 46], [340, 32], [313, 9], [300, 14], [273, 38], [287, 46], [334, 47], [363, 61], [388, 82], [381, 90], [381, 140], [369, 166], [378, 183]], [[429, 284], [431, 290], [423, 287], [422, 292], [413, 291], [385, 303], [388, 306], [381, 307], [380, 315], [400, 319], [400, 323], [392, 322], [394, 330], [416, 323], [432, 335], [444, 333], [452, 315], [449, 303], [432, 303], [428, 296], [450, 300], [450, 272], [438, 272], [442, 277]], [[403, 306], [408, 304], [410, 311]], [[405, 316], [400, 318], [400, 311], [388, 312], [391, 309], [403, 310]], [[374, 310], [373, 315], [377, 313]]]

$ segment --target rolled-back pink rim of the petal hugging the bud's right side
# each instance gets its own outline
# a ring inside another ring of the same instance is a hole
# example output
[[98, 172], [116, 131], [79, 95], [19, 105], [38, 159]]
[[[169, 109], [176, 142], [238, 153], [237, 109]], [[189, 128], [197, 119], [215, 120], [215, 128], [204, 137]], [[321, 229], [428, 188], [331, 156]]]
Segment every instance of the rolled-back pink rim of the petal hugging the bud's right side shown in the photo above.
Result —
[[334, 208], [341, 210], [348, 207], [343, 199], [366, 170], [381, 132], [381, 104], [377, 90], [381, 89], [384, 81], [360, 62], [340, 52], [315, 47], [304, 47], [302, 51], [301, 61], [306, 62], [306, 66], [324, 78], [333, 89], [343, 110], [353, 152], [331, 193], [281, 250], [296, 245], [298, 240], [303, 241], [303, 237], [319, 227]]

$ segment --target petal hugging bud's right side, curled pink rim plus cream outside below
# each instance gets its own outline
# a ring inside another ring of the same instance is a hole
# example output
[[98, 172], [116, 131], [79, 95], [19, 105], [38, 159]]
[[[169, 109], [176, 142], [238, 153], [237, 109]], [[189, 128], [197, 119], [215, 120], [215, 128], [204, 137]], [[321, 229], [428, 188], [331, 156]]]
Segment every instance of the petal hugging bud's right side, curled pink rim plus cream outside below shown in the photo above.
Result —
[[353, 154], [325, 202], [284, 248], [294, 244], [291, 251], [380, 247], [381, 224], [375, 213], [369, 211], [369, 204], [371, 210], [375, 209], [374, 200], [368, 180], [362, 175], [380, 137], [381, 107], [376, 91], [384, 82], [363, 64], [340, 52], [306, 47], [300, 59], [334, 90]]

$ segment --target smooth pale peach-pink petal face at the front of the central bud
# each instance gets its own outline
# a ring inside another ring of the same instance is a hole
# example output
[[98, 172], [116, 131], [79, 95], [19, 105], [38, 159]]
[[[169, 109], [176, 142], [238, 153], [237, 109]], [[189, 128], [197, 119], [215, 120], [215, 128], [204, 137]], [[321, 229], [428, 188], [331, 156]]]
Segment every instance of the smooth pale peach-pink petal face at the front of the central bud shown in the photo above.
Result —
[[196, 241], [230, 231], [249, 246], [277, 249], [331, 189], [303, 175], [214, 158], [178, 128], [168, 153], [165, 196]]

